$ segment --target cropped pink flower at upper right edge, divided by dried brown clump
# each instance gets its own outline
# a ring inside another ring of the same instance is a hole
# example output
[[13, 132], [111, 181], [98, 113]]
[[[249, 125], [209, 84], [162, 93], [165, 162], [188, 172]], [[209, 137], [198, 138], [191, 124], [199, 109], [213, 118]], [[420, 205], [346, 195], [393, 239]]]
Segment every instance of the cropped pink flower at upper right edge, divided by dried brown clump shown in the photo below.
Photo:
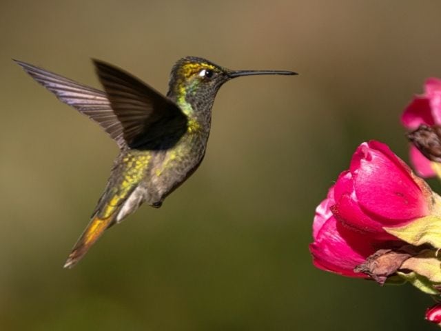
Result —
[[[404, 110], [401, 117], [402, 124], [415, 130], [421, 124], [433, 126], [441, 124], [441, 80], [427, 79], [424, 84], [424, 94], [414, 97], [413, 101]], [[430, 161], [416, 148], [411, 148], [411, 162], [416, 172], [422, 177], [433, 177], [435, 172], [431, 169]]]

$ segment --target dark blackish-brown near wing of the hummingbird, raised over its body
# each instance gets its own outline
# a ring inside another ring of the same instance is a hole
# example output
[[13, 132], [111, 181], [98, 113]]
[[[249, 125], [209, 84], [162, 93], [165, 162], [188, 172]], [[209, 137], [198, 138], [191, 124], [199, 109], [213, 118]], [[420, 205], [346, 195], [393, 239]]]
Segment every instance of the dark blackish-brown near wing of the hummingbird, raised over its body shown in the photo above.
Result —
[[171, 136], [185, 132], [187, 117], [176, 103], [119, 68], [98, 60], [94, 64], [128, 146], [176, 139]]

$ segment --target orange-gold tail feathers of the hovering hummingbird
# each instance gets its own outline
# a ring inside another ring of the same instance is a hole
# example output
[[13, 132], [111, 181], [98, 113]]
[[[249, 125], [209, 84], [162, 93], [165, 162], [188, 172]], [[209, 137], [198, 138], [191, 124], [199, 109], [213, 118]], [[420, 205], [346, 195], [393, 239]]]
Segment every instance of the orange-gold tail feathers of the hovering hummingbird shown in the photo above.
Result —
[[100, 219], [94, 216], [87, 228], [85, 228], [81, 237], [76, 241], [72, 252], [70, 252], [68, 259], [64, 263], [63, 268], [72, 268], [78, 263], [92, 247], [92, 245], [101, 237], [104, 230], [109, 228], [114, 223], [114, 214], [107, 219]]

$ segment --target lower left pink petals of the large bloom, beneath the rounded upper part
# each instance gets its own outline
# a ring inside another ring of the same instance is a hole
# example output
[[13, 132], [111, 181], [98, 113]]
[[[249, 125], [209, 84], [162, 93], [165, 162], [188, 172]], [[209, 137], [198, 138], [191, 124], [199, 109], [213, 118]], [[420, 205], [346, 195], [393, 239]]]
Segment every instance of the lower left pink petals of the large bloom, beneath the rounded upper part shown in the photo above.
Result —
[[309, 245], [313, 263], [317, 268], [343, 276], [369, 278], [366, 274], [354, 272], [353, 269], [364, 263], [376, 249], [364, 234], [345, 228], [337, 221], [330, 209], [334, 204], [332, 187], [327, 199], [316, 209], [313, 224], [314, 242]]

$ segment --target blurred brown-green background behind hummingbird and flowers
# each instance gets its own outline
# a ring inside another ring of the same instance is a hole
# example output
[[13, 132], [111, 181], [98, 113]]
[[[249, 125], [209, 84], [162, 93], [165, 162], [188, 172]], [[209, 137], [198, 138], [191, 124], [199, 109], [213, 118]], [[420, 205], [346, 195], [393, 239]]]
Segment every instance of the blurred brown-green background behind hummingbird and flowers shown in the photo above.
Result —
[[[436, 330], [429, 297], [316, 270], [314, 208], [362, 141], [441, 76], [441, 2], [0, 3], [1, 330]], [[61, 267], [116, 145], [10, 59], [99, 87], [90, 57], [161, 92], [174, 61], [298, 77], [227, 83], [201, 168]], [[440, 190], [436, 181], [431, 185]]]

